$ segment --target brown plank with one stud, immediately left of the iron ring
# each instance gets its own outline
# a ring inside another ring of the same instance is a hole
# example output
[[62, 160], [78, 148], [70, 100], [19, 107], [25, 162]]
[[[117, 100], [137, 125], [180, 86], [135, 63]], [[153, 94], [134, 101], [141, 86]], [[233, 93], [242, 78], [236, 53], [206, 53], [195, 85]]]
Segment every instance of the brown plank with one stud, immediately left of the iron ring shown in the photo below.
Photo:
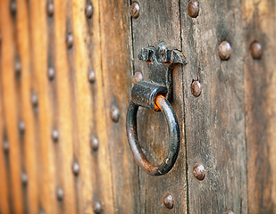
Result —
[[[111, 171], [106, 173], [112, 174], [114, 212], [136, 213], [138, 172], [125, 134], [131, 88], [129, 1], [99, 1], [99, 11], [104, 93], [97, 99], [105, 100], [105, 106], [99, 107], [105, 109], [106, 138], [101, 137], [106, 139], [110, 153]], [[120, 111], [118, 122], [116, 113], [112, 120], [113, 108]]]

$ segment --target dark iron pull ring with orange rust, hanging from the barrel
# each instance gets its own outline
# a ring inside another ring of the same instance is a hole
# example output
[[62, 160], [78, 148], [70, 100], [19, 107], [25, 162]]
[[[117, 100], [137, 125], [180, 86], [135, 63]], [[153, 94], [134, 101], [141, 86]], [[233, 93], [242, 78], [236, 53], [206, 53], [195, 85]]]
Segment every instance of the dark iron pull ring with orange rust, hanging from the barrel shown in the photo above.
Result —
[[170, 132], [170, 148], [165, 160], [159, 166], [154, 166], [146, 160], [146, 156], [141, 149], [137, 136], [137, 112], [139, 106], [133, 102], [130, 103], [127, 114], [127, 134], [130, 149], [138, 165], [151, 176], [162, 176], [171, 170], [177, 159], [180, 150], [180, 128], [176, 114], [168, 100], [163, 97], [163, 95], [157, 95], [155, 103], [167, 119]]

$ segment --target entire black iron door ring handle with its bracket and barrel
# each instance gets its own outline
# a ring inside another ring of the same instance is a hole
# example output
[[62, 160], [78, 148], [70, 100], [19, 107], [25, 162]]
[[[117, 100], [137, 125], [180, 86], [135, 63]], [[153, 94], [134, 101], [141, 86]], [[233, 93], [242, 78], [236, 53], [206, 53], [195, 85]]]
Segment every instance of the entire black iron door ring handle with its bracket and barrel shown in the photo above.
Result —
[[[157, 48], [142, 48], [138, 59], [149, 63], [148, 80], [137, 82], [131, 90], [131, 103], [127, 114], [127, 134], [130, 149], [138, 165], [151, 176], [162, 176], [173, 167], [180, 150], [180, 128], [169, 100], [171, 98], [171, 71], [175, 64], [186, 64], [185, 56], [178, 50], [167, 49], [164, 43]], [[163, 111], [170, 132], [170, 148], [167, 157], [154, 166], [146, 160], [137, 136], [138, 107]]]

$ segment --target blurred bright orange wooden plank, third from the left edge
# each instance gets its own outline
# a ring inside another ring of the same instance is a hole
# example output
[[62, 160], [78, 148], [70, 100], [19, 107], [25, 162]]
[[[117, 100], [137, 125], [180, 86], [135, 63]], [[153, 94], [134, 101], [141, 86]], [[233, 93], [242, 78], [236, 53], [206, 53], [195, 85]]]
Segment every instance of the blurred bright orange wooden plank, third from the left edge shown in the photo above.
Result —
[[[32, 62], [32, 89], [38, 94], [38, 193], [39, 208], [46, 213], [57, 213], [56, 167], [54, 143], [51, 138], [53, 109], [49, 97], [47, 73], [46, 1], [29, 1], [29, 26]], [[51, 205], [50, 205], [51, 204]]]

